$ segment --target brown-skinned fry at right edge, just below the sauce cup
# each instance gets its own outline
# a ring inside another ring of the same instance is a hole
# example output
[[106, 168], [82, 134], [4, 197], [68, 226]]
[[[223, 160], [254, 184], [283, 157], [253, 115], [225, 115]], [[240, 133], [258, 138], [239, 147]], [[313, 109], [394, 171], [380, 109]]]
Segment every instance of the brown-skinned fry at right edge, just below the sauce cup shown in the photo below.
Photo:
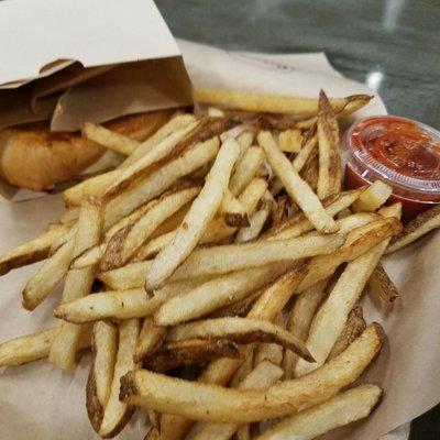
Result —
[[410, 220], [405, 226], [402, 233], [392, 240], [386, 253], [391, 254], [392, 252], [396, 252], [437, 228], [440, 228], [439, 205], [419, 213], [415, 219]]

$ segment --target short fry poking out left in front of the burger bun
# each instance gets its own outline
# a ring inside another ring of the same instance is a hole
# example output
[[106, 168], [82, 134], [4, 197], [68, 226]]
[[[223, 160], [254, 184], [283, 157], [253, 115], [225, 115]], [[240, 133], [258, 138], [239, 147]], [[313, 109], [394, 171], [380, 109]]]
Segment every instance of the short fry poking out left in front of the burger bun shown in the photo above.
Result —
[[106, 129], [100, 124], [85, 122], [81, 128], [82, 136], [94, 141], [106, 148], [129, 156], [136, 150], [140, 142], [116, 131]]

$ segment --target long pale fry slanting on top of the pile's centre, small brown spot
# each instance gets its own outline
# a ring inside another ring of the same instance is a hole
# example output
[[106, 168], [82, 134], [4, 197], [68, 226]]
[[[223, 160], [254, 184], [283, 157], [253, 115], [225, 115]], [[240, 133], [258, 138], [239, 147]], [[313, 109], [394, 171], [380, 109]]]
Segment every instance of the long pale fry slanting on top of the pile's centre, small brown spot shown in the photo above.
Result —
[[197, 245], [221, 204], [239, 153], [240, 146], [233, 139], [228, 139], [222, 144], [204, 188], [193, 202], [176, 235], [156, 255], [146, 273], [145, 289], [163, 284]]

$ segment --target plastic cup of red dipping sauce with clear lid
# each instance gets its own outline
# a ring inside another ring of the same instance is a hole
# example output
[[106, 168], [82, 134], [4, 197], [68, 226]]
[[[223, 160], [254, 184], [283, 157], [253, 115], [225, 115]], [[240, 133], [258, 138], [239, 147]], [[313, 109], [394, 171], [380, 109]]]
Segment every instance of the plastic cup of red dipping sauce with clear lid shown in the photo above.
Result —
[[358, 188], [375, 180], [393, 187], [388, 201], [402, 201], [409, 220], [440, 202], [440, 133], [396, 117], [354, 123], [348, 134], [345, 180]]

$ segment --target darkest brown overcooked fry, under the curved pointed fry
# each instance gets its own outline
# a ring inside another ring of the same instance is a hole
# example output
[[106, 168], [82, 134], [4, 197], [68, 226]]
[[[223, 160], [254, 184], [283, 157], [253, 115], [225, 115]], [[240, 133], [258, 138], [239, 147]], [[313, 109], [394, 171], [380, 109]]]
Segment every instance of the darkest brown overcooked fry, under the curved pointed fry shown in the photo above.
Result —
[[164, 373], [219, 358], [239, 356], [239, 348], [233, 341], [190, 339], [162, 344], [143, 361], [143, 365], [150, 371]]

